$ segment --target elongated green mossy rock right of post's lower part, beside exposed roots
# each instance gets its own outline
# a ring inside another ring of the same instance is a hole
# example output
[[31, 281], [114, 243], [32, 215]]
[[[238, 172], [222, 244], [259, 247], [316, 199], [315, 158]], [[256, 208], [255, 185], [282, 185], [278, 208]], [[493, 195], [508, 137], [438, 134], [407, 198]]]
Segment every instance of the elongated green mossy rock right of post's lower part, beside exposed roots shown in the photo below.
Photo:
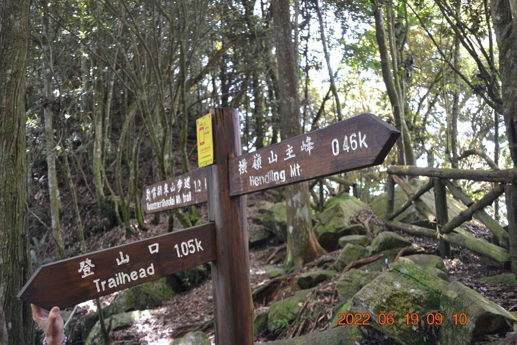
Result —
[[314, 289], [300, 290], [292, 297], [281, 299], [273, 303], [269, 307], [269, 314], [267, 320], [267, 328], [272, 333], [279, 331], [288, 325], [296, 318], [303, 303], [312, 293]]

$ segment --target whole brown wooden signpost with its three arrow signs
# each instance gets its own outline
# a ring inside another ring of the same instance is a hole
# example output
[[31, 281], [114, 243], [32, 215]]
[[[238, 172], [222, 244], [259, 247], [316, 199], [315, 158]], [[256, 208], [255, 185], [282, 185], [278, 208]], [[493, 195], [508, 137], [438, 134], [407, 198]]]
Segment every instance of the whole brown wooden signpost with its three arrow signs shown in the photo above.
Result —
[[238, 112], [211, 115], [215, 163], [147, 186], [141, 200], [146, 213], [208, 201], [210, 223], [40, 266], [18, 297], [64, 308], [211, 261], [216, 344], [251, 345], [245, 194], [380, 164], [400, 132], [361, 114], [241, 155]]

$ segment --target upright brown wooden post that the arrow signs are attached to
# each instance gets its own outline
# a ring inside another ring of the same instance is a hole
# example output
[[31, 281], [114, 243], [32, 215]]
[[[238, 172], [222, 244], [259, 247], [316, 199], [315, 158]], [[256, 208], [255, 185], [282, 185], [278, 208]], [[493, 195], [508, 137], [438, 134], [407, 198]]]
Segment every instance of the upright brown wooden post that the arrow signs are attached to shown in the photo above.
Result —
[[246, 197], [230, 197], [228, 160], [240, 156], [239, 114], [211, 109], [215, 164], [207, 173], [208, 218], [216, 224], [217, 260], [212, 262], [216, 345], [253, 344], [246, 223]]

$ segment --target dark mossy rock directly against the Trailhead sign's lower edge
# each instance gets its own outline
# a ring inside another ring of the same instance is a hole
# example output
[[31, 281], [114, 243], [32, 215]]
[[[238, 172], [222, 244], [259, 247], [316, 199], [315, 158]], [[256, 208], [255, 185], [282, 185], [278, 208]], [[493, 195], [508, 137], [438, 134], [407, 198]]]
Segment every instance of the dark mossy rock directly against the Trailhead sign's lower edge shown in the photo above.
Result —
[[113, 302], [104, 308], [104, 318], [130, 310], [157, 308], [173, 295], [174, 291], [166, 277], [152, 280], [116, 295]]

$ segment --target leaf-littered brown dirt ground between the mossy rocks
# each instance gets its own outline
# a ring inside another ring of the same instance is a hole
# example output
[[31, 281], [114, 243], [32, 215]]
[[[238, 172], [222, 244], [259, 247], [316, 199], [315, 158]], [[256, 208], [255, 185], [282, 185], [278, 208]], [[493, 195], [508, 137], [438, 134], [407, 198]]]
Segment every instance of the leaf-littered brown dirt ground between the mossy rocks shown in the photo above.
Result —
[[[258, 198], [264, 198], [258, 197]], [[257, 199], [249, 200], [249, 204], [254, 204]], [[204, 206], [203, 206], [204, 207]], [[248, 207], [248, 218], [251, 219], [253, 213], [256, 212], [255, 206]], [[206, 214], [206, 210], [202, 209], [202, 213]], [[369, 207], [363, 208], [353, 219], [355, 222], [362, 222], [373, 213]], [[166, 216], [162, 215], [160, 223], [155, 226], [151, 224], [153, 216], [147, 216], [148, 222], [147, 232], [140, 232], [133, 235], [129, 240], [125, 239], [125, 233], [119, 228], [115, 228], [100, 237], [90, 238], [88, 240], [88, 251], [98, 250], [101, 247], [115, 246], [123, 243], [133, 242], [137, 239], [156, 236], [166, 232]], [[375, 216], [371, 218], [371, 224], [376, 223], [382, 225], [382, 221]], [[176, 227], [180, 227], [176, 224]], [[260, 224], [249, 220], [249, 231], [264, 231]], [[490, 232], [483, 226], [474, 224], [466, 227], [477, 237], [489, 239]], [[400, 233], [402, 236], [410, 239], [414, 244], [425, 249], [425, 253], [437, 254], [437, 244], [432, 239], [422, 239], [419, 237], [409, 236]], [[258, 248], [250, 248], [250, 278], [251, 289], [254, 292], [262, 284], [267, 283], [270, 278], [266, 275], [265, 265], [271, 264], [266, 262], [270, 254], [281, 247], [281, 245], [270, 243]], [[280, 251], [281, 252], [281, 251]], [[337, 258], [339, 250], [329, 252], [323, 257], [318, 258], [315, 262], [305, 267], [306, 270], [329, 268], [333, 261]], [[514, 284], [494, 284], [490, 282], [480, 281], [483, 276], [494, 276], [508, 272], [496, 263], [477, 256], [468, 250], [452, 249], [452, 257], [444, 260], [449, 271], [451, 280], [457, 280], [466, 286], [478, 291], [481, 295], [491, 301], [501, 305], [508, 311], [517, 312], [517, 286]], [[280, 264], [277, 264], [280, 265]], [[207, 267], [209, 265], [207, 264]], [[320, 332], [330, 327], [330, 319], [333, 310], [342, 303], [339, 301], [337, 294], [337, 277], [331, 281], [321, 283], [315, 290], [313, 297], [302, 307], [302, 314], [305, 317], [300, 318], [300, 322], [292, 325], [282, 332], [278, 337], [266, 333], [255, 338], [255, 341], [269, 341], [274, 339], [291, 338], [303, 334]], [[254, 298], [255, 314], [267, 310], [271, 303], [278, 299], [292, 295], [298, 290], [296, 285], [296, 275], [290, 274], [281, 279], [280, 288], [270, 294], [258, 294]], [[109, 304], [113, 295], [102, 298], [102, 304]], [[92, 303], [81, 305], [77, 312], [77, 319], [87, 312], [96, 309]], [[110, 335], [110, 345], [164, 345], [169, 344], [175, 338], [181, 337], [188, 332], [200, 330], [203, 331], [211, 339], [214, 338], [214, 321], [213, 321], [213, 304], [212, 304], [212, 282], [210, 278], [205, 279], [199, 286], [193, 289], [174, 295], [170, 301], [165, 302], [156, 314], [150, 317], [142, 318], [131, 324], [130, 327], [113, 331]], [[378, 333], [372, 328], [363, 328], [363, 339], [359, 344], [397, 344], [386, 336]], [[505, 334], [494, 335], [477, 339], [476, 344], [484, 344]]]

